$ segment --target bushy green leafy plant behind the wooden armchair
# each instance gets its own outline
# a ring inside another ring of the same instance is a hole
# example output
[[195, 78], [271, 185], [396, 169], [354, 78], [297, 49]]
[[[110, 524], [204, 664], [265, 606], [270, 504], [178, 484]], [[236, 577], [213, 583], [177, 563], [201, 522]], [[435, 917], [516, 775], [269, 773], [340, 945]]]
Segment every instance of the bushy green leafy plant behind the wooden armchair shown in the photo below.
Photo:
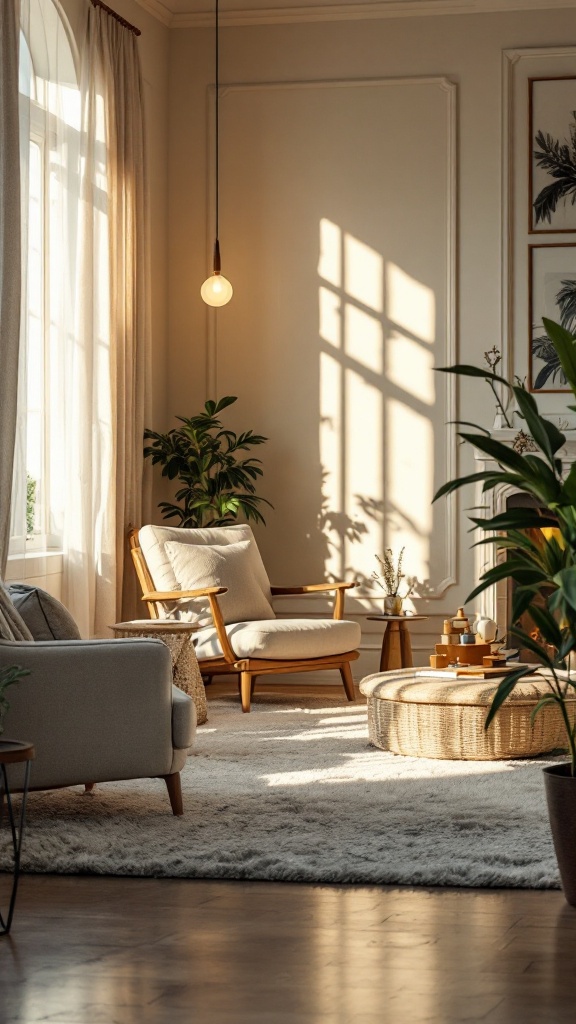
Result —
[[162, 466], [162, 475], [169, 480], [180, 481], [175, 495], [179, 504], [159, 505], [164, 518], [177, 519], [178, 526], [225, 526], [239, 515], [264, 522], [259, 507], [271, 503], [256, 495], [255, 481], [262, 475], [260, 460], [241, 454], [268, 438], [251, 430], [236, 434], [222, 427], [217, 414], [236, 400], [233, 395], [208, 400], [198, 416], [176, 417], [182, 425], [165, 434], [145, 431], [145, 438], [153, 441], [145, 446], [145, 458]]

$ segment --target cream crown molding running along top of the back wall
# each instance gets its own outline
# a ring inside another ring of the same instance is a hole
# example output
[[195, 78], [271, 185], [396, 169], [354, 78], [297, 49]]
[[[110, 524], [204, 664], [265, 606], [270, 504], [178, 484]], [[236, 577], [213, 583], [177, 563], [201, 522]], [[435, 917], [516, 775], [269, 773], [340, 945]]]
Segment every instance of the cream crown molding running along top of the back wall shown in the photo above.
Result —
[[[158, 0], [137, 0], [150, 13]], [[305, 22], [366, 22], [388, 17], [426, 17], [446, 14], [492, 14], [517, 10], [550, 10], [573, 8], [576, 0], [381, 0], [379, 3], [306, 4], [293, 7], [253, 7], [244, 10], [223, 10], [219, 15], [222, 27], [245, 25], [291, 25]], [[210, 10], [156, 14], [172, 29], [212, 28]]]

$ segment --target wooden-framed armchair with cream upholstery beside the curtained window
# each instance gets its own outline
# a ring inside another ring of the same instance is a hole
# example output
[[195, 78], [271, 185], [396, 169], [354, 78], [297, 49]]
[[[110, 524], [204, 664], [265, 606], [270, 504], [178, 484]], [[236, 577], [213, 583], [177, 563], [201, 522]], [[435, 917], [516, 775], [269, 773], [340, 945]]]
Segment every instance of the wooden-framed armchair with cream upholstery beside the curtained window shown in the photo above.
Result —
[[[335, 592], [333, 616], [331, 620], [318, 618], [276, 618], [272, 606], [268, 618], [257, 621], [231, 621], [227, 614], [227, 598], [229, 588], [225, 586], [202, 586], [192, 589], [178, 589], [178, 583], [170, 587], [156, 586], [161, 580], [166, 580], [167, 560], [161, 565], [149, 564], [153, 559], [147, 559], [140, 539], [145, 531], [154, 531], [154, 543], [164, 543], [164, 538], [186, 540], [192, 549], [200, 542], [199, 547], [217, 544], [218, 552], [224, 553], [223, 545], [240, 546], [238, 542], [249, 542], [250, 555], [258, 559], [255, 566], [260, 586], [265, 588], [268, 577], [249, 526], [230, 526], [212, 529], [187, 530], [177, 527], [143, 527], [140, 531], [130, 532], [130, 550], [136, 569], [136, 574], [142, 590], [142, 601], [146, 602], [151, 618], [159, 618], [174, 614], [179, 617], [179, 608], [190, 606], [191, 601], [203, 598], [208, 602], [210, 611], [209, 624], [198, 634], [198, 662], [203, 676], [236, 675], [242, 700], [242, 711], [250, 711], [250, 701], [254, 683], [258, 676], [286, 675], [299, 672], [318, 672], [338, 670], [344, 691], [348, 700], [355, 699], [354, 679], [351, 662], [356, 660], [359, 651], [360, 627], [358, 623], [346, 622], [344, 613], [344, 593], [355, 587], [353, 583], [323, 583], [303, 587], [271, 587], [268, 584], [270, 597], [301, 596]], [[186, 535], [186, 538], [184, 538]], [[150, 542], [150, 537], [147, 538]], [[253, 546], [253, 548], [252, 548]], [[168, 543], [169, 547], [169, 543]], [[211, 549], [216, 550], [216, 549]], [[154, 549], [155, 556], [157, 549]], [[230, 549], [232, 556], [233, 549]], [[155, 571], [156, 569], [156, 571]], [[175, 578], [174, 578], [175, 580]], [[265, 584], [262, 583], [265, 581]], [[317, 653], [317, 651], [319, 651]]]

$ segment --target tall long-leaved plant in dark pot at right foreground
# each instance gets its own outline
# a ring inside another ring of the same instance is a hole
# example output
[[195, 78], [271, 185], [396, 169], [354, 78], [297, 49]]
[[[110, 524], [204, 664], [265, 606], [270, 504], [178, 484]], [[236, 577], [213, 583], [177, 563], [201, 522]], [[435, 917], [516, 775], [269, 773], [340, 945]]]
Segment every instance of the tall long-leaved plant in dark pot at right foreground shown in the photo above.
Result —
[[[543, 324], [576, 399], [576, 335], [552, 321], [544, 319]], [[540, 414], [533, 395], [521, 382], [510, 384], [494, 373], [497, 360], [490, 360], [491, 353], [486, 355], [488, 370], [455, 366], [444, 372], [482, 377], [495, 393], [498, 386], [503, 389], [505, 397], [498, 398], [498, 404], [505, 421], [510, 425], [506, 410], [512, 401], [524, 420], [518, 435], [523, 440], [521, 451], [496, 440], [483, 427], [459, 421], [460, 426], [474, 428], [474, 432], [460, 431], [459, 437], [488, 456], [497, 468], [445, 483], [435, 501], [464, 484], [479, 482], [485, 493], [511, 485], [533, 499], [532, 508], [513, 508], [490, 518], [469, 517], [474, 528], [487, 535], [477, 543], [494, 545], [504, 550], [506, 557], [483, 574], [467, 600], [500, 580], [510, 579], [516, 584], [509, 634], [535, 656], [548, 686], [533, 715], [553, 703], [566, 729], [570, 759], [544, 768], [544, 781], [563, 889], [568, 902], [576, 905], [576, 673], [571, 658], [576, 647], [576, 462], [567, 465], [562, 459], [566, 436]], [[569, 408], [576, 412], [576, 406]], [[524, 443], [527, 438], [528, 446]], [[526, 613], [534, 627], [530, 632], [520, 625]], [[494, 694], [486, 728], [519, 680], [533, 671], [534, 666], [522, 667], [504, 677]]]

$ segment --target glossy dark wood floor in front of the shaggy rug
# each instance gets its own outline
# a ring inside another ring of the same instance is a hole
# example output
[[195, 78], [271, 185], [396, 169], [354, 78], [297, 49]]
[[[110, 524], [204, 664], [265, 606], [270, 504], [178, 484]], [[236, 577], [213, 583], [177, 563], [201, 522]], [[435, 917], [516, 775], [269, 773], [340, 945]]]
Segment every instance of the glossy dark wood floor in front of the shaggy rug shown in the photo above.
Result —
[[574, 1024], [575, 954], [560, 892], [27, 876], [0, 1024]]

